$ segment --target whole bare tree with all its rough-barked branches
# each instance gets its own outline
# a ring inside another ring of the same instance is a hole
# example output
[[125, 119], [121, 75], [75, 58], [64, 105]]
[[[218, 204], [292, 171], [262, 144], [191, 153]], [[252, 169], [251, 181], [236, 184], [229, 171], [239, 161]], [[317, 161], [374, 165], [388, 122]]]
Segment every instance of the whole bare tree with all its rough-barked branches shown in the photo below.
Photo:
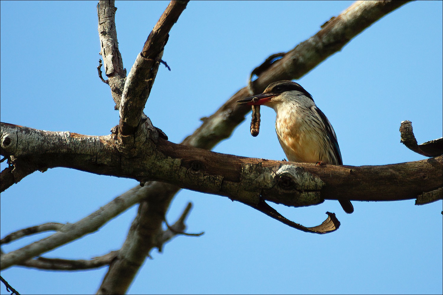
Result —
[[[111, 130], [112, 134], [87, 136], [1, 123], [1, 154], [10, 164], [1, 172], [2, 192], [35, 171], [54, 167], [140, 181], [140, 186], [77, 223], [42, 224], [4, 237], [1, 244], [35, 232], [55, 231], [43, 240], [2, 253], [1, 269], [23, 265], [74, 270], [109, 264], [97, 293], [123, 294], [152, 248], [161, 249], [172, 236], [183, 233], [189, 207], [168, 230], [161, 228], [164, 214], [180, 188], [229, 197], [254, 208], [261, 201], [298, 207], [338, 197], [356, 201], [417, 199], [418, 203], [442, 198], [443, 165], [442, 156], [438, 156], [441, 153], [428, 153], [432, 158], [416, 162], [355, 167], [271, 161], [206, 150], [228, 138], [250, 111], [245, 106], [237, 106], [237, 100], [249, 96], [251, 90], [261, 92], [269, 83], [299, 79], [365, 28], [408, 1], [358, 1], [351, 5], [323, 24], [317, 34], [280, 54], [281, 59], [264, 64], [255, 72], [258, 79], [229, 98], [194, 134], [177, 145], [168, 142], [161, 130], [152, 125], [143, 108], [163, 62], [168, 32], [187, 2], [171, 1], [149, 34], [128, 77], [118, 50], [114, 1], [100, 1], [97, 6], [106, 83], [120, 111], [120, 121]], [[33, 259], [96, 231], [136, 203], [140, 203], [138, 214], [120, 250], [92, 261]]]

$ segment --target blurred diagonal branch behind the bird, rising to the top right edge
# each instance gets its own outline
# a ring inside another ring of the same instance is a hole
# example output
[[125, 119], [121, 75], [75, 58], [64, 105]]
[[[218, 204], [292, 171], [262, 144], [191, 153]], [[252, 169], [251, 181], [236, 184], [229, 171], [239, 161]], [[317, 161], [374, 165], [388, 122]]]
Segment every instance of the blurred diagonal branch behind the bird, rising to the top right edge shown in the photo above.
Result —
[[[340, 15], [326, 22], [311, 38], [288, 51], [282, 59], [262, 71], [260, 77], [253, 82], [253, 89], [256, 93], [261, 93], [272, 82], [303, 77], [381, 17], [408, 2], [357, 1]], [[237, 106], [237, 100], [248, 96], [249, 87], [238, 90], [214, 114], [205, 118], [202, 125], [182, 144], [212, 149], [218, 142], [229, 138], [234, 128], [251, 110], [247, 106]]]

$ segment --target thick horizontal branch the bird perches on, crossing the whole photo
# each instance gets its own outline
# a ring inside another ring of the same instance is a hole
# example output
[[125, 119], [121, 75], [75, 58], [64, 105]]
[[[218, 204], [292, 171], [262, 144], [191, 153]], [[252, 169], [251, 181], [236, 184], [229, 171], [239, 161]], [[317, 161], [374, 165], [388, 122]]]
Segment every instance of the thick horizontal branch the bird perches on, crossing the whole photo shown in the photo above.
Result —
[[67, 167], [142, 183], [164, 181], [251, 204], [257, 204], [260, 196], [288, 206], [338, 198], [405, 200], [442, 186], [442, 157], [381, 166], [314, 165], [214, 153], [161, 138], [155, 145], [147, 138], [139, 156], [126, 158], [120, 156], [111, 135], [72, 136], [5, 123], [1, 127], [2, 138], [15, 140], [6, 149], [1, 143], [11, 165], [26, 158], [44, 169]]

